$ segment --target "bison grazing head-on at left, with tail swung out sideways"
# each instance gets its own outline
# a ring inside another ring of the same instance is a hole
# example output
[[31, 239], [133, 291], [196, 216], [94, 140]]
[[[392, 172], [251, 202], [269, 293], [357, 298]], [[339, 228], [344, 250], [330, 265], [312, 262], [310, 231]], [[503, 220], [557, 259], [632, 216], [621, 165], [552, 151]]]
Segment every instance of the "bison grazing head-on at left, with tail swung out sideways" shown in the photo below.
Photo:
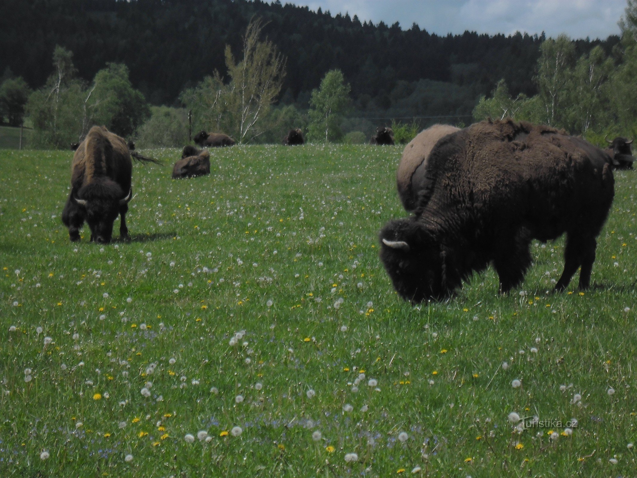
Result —
[[73, 155], [71, 194], [62, 212], [71, 241], [80, 240], [86, 221], [91, 241], [110, 242], [117, 215], [122, 217], [120, 237], [128, 238], [125, 215], [132, 198], [131, 173], [131, 154], [124, 139], [104, 126], [92, 127]]

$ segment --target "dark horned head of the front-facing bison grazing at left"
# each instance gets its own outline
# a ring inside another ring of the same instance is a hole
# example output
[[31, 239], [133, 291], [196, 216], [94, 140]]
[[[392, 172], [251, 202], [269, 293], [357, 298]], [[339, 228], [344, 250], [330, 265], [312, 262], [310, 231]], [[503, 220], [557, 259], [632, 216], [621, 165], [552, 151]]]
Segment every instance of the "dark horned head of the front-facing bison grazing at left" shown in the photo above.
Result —
[[113, 237], [113, 222], [120, 210], [132, 199], [132, 188], [128, 193], [110, 179], [85, 185], [73, 200], [86, 210], [90, 237], [95, 242], [108, 243]]

